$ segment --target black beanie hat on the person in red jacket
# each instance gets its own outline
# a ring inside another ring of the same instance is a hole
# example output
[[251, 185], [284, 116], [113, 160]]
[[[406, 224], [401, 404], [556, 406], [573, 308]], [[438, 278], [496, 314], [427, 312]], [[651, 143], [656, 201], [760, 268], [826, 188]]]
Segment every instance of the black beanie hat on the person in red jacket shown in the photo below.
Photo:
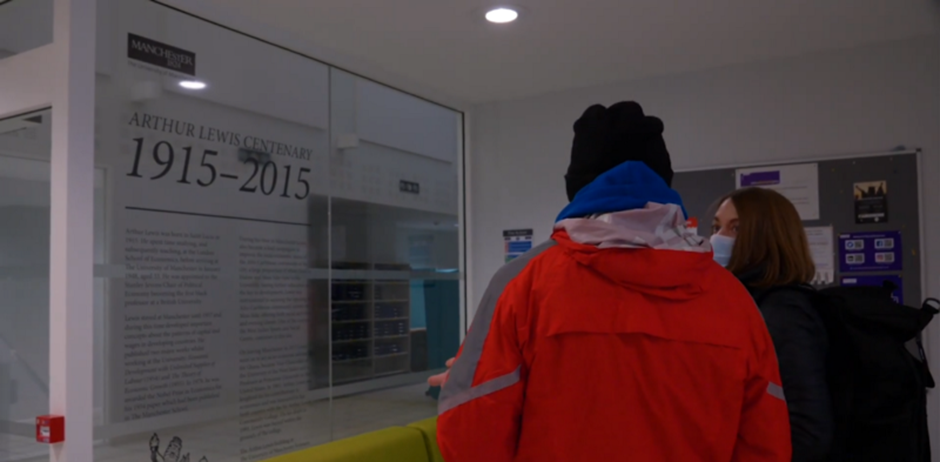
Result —
[[645, 163], [672, 185], [672, 162], [663, 140], [663, 121], [647, 116], [633, 101], [589, 107], [574, 123], [571, 164], [565, 175], [568, 200], [604, 172], [627, 161]]

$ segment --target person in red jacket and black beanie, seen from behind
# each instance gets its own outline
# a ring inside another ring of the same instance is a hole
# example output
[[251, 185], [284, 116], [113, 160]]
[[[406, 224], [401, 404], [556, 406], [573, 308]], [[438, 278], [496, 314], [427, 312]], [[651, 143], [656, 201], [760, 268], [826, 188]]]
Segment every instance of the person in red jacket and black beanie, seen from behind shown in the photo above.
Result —
[[662, 121], [575, 123], [552, 239], [490, 282], [439, 398], [448, 462], [789, 462], [773, 343], [686, 228]]

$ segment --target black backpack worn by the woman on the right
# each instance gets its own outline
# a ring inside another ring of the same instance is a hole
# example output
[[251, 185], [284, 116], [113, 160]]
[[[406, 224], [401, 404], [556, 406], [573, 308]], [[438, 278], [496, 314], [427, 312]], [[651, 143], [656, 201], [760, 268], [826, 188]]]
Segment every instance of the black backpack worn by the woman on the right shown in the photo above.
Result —
[[796, 289], [813, 300], [829, 335], [832, 462], [930, 462], [927, 389], [935, 383], [920, 336], [940, 301], [900, 305], [894, 289]]

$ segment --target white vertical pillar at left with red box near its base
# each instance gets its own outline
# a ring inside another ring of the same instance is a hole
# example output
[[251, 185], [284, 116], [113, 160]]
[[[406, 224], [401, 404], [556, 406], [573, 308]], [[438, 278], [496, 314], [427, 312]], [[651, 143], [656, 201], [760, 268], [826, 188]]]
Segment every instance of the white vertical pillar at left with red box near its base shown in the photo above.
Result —
[[95, 0], [55, 0], [49, 411], [56, 462], [91, 462], [94, 402]]

